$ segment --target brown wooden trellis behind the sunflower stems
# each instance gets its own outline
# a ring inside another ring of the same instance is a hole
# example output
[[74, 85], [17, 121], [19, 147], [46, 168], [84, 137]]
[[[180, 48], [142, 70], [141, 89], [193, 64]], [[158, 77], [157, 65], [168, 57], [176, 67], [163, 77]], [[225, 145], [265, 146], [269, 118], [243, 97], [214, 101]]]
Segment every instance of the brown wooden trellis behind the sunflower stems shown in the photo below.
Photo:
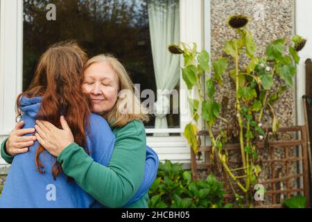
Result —
[[[272, 129], [268, 129], [268, 132], [272, 132]], [[263, 181], [259, 181], [259, 184], [265, 187], [265, 198], [266, 204], [261, 203], [261, 201], [255, 201], [254, 205], [257, 207], [282, 207], [280, 201], [281, 196], [285, 198], [291, 197], [291, 195], [296, 195], [302, 193], [307, 198], [307, 204], [309, 206], [309, 163], [307, 154], [307, 143], [306, 143], [306, 126], [294, 126], [289, 128], [279, 128], [278, 133], [297, 133], [297, 137], [300, 139], [290, 139], [290, 140], [273, 140], [265, 142], [259, 142], [257, 148], [259, 151], [264, 151], [267, 153], [267, 158], [265, 160], [260, 160], [259, 164], [261, 168], [267, 167], [270, 169], [270, 173], [266, 175]], [[201, 141], [201, 137], [207, 136], [206, 131], [200, 131], [198, 133], [198, 141]], [[198, 157], [195, 155], [193, 150], [191, 150], [191, 168], [193, 172], [193, 179], [197, 180], [198, 169], [207, 169], [207, 173], [219, 171], [220, 177], [223, 178], [224, 189], [227, 191], [225, 194], [225, 200], [227, 203], [232, 203], [234, 195], [232, 194], [232, 189], [230, 189], [230, 183], [227, 175], [223, 169], [220, 171], [220, 163], [218, 166], [218, 161], [211, 159], [211, 148], [212, 146], [200, 146], [199, 151], [205, 153], [205, 160], [197, 160]], [[266, 150], [263, 150], [266, 149]], [[295, 152], [290, 152], [290, 150]], [[223, 151], [240, 153], [239, 144], [229, 144], [223, 146]], [[275, 151], [280, 151], [284, 153], [283, 157], [278, 157], [275, 155]], [[230, 155], [230, 154], [229, 154]], [[239, 157], [238, 160], [241, 160]], [[214, 164], [212, 162], [214, 161]], [[290, 164], [295, 163], [296, 169], [301, 169], [301, 171], [296, 171], [295, 173], [290, 170]], [[229, 166], [241, 165], [241, 162], [230, 161]], [[283, 172], [277, 173], [275, 170], [276, 164], [284, 167]], [[235, 167], [233, 167], [235, 168]], [[290, 181], [295, 180], [298, 186], [293, 187], [290, 185]], [[284, 187], [279, 186], [280, 184], [285, 185]]]

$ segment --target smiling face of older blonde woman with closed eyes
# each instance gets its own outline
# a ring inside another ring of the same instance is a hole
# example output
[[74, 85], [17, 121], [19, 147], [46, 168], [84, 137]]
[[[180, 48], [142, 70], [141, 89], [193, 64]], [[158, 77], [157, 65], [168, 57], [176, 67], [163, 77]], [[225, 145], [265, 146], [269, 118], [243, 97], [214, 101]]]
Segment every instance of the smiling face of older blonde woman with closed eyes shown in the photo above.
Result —
[[96, 62], [85, 70], [83, 92], [92, 100], [93, 112], [112, 110], [118, 97], [118, 79], [107, 62]]

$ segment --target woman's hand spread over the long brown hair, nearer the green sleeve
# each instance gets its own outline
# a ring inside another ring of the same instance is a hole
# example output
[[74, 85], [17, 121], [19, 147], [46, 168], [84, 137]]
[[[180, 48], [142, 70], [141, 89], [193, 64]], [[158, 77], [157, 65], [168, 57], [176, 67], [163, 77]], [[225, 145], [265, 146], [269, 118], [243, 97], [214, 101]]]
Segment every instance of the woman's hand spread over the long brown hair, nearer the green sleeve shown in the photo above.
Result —
[[55, 157], [58, 157], [66, 146], [74, 142], [73, 133], [63, 116], [60, 117], [60, 123], [62, 129], [42, 120], [36, 120], [37, 125], [35, 126], [37, 130], [35, 136], [38, 142]]

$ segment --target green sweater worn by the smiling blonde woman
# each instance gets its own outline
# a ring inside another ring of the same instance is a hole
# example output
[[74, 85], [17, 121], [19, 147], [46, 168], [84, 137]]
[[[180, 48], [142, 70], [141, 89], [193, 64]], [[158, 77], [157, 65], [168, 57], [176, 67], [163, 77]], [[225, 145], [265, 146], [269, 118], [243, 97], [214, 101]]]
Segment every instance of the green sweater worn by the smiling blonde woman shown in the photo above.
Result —
[[[143, 180], [146, 133], [144, 124], [136, 120], [122, 128], [114, 128], [113, 133], [116, 142], [108, 167], [94, 162], [76, 143], [64, 148], [58, 162], [62, 164], [64, 173], [74, 178], [99, 203], [106, 207], [123, 207]], [[10, 164], [13, 157], [6, 153], [6, 140], [1, 144], [1, 156]], [[128, 207], [148, 207], [148, 193]]]

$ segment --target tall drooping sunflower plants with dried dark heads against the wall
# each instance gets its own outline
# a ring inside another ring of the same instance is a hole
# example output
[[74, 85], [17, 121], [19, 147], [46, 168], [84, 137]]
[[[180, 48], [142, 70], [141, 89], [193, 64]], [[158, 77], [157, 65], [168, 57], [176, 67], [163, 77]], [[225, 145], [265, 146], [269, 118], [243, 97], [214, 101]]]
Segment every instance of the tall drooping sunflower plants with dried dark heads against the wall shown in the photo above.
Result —
[[[273, 134], [277, 133], [279, 124], [272, 104], [279, 99], [279, 95], [287, 87], [293, 87], [295, 64], [300, 61], [297, 52], [306, 44], [306, 40], [299, 35], [295, 35], [291, 40], [278, 39], [268, 45], [266, 56], [257, 57], [257, 45], [248, 29], [248, 22], [248, 17], [244, 15], [229, 17], [227, 23], [234, 29], [236, 37], [225, 42], [223, 46], [227, 56], [212, 62], [207, 51], [197, 51], [195, 43], [193, 47], [184, 42], [168, 46], [171, 53], [183, 55], [182, 78], [188, 89], [198, 90], [199, 95], [199, 99], [189, 99], [193, 118], [185, 127], [184, 136], [194, 153], [198, 154], [198, 119], [201, 115], [211, 139], [213, 156], [230, 178], [236, 200], [241, 198], [239, 193], [243, 192], [245, 203], [250, 203], [253, 198], [252, 188], [258, 183], [261, 172], [261, 167], [257, 164], [259, 162], [257, 141], [263, 140], [266, 136], [261, 128], [263, 110], [270, 110], [273, 120], [272, 131]], [[245, 61], [245, 58], [248, 58], [248, 61]], [[233, 62], [235, 69], [229, 69], [230, 62]], [[211, 65], [213, 72], [211, 72]], [[206, 78], [203, 84], [205, 72], [211, 73], [211, 77]], [[233, 93], [236, 95], [236, 103], [233, 110], [236, 112], [238, 123], [237, 140], [239, 140], [242, 162], [242, 166], [236, 169], [229, 167], [228, 153], [223, 150], [223, 146], [229, 142], [228, 129], [220, 129], [220, 133], [217, 134], [212, 130], [217, 120], [227, 121], [220, 117], [221, 104], [214, 99], [217, 85], [222, 87], [224, 74], [229, 74], [235, 84]], [[277, 90], [271, 90], [274, 85], [277, 85], [275, 83], [277, 79], [281, 79], [284, 85]], [[205, 85], [205, 94], [202, 93], [202, 85]], [[243, 175], [238, 175], [239, 171], [243, 172], [241, 173]], [[239, 187], [240, 190], [235, 190], [234, 187]]]

